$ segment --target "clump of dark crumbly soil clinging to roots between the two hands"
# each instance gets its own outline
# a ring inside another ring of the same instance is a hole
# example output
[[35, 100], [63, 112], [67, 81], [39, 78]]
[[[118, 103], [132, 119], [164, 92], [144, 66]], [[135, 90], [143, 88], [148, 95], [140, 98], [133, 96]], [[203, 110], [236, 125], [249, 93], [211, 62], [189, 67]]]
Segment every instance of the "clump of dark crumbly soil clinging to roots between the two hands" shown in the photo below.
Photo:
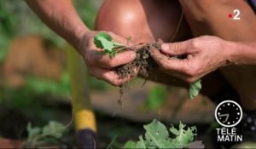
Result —
[[[151, 57], [151, 50], [160, 49], [160, 43], [142, 43], [139, 44], [138, 47], [139, 48], [134, 49], [137, 54], [136, 59], [123, 66], [115, 68], [114, 71], [119, 75], [120, 79], [124, 79], [125, 77], [129, 76], [136, 77], [139, 75], [145, 78], [146, 83], [149, 76], [148, 72], [152, 72], [158, 68], [158, 65]], [[128, 89], [129, 82], [125, 82], [119, 86], [119, 108], [122, 106], [122, 97], [125, 94], [125, 91], [127, 91]]]

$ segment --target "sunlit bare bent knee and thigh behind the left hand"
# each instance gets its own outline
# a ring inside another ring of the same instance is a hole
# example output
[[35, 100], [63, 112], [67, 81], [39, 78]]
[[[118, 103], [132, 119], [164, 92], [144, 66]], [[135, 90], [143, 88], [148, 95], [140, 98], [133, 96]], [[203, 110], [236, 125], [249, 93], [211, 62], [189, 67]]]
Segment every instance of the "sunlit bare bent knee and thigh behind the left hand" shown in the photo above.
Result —
[[[122, 37], [131, 36], [133, 43], [154, 42], [158, 38], [170, 42], [177, 32], [180, 18], [181, 9], [177, 1], [106, 0], [97, 15], [96, 30], [114, 32]], [[191, 32], [183, 18], [174, 41], [188, 38], [191, 38]], [[168, 77], [173, 80], [171, 76]], [[203, 92], [215, 95], [224, 83], [224, 78], [218, 72], [212, 72], [203, 79]]]

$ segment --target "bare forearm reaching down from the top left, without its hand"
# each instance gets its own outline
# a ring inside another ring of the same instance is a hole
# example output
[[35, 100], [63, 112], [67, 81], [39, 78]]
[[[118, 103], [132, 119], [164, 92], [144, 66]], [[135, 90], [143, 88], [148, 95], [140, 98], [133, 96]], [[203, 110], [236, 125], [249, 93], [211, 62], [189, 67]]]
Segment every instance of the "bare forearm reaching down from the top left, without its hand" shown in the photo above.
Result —
[[26, 3], [49, 28], [79, 49], [80, 40], [88, 28], [79, 18], [71, 0], [26, 0]]

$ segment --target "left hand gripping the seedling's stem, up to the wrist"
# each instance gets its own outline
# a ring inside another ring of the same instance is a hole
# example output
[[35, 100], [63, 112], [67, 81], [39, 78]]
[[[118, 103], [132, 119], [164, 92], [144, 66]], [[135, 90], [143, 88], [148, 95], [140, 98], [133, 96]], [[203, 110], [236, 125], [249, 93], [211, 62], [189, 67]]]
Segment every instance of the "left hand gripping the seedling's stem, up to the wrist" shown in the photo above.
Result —
[[[103, 51], [103, 49], [97, 49], [93, 43], [96, 33], [98, 32], [89, 31], [84, 33], [84, 37], [79, 48], [79, 52], [84, 58], [90, 75], [111, 83], [114, 86], [125, 83], [131, 77], [119, 79], [119, 76], [113, 72], [113, 68], [131, 62], [136, 58], [136, 53], [131, 50], [125, 51], [116, 54], [113, 58], [110, 58], [108, 54], [100, 54], [99, 52]], [[119, 43], [127, 42], [124, 37], [119, 37], [113, 32], [108, 32], [108, 34], [113, 37], [114, 41]]]

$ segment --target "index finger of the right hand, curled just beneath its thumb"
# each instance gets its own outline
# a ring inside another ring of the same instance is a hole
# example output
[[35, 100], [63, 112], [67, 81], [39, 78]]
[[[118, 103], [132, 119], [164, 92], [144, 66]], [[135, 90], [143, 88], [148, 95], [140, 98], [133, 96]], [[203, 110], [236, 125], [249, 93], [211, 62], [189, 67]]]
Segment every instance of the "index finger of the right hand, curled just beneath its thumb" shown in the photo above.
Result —
[[155, 62], [166, 72], [185, 72], [187, 66], [187, 59], [178, 60], [170, 59], [165, 54], [161, 54], [159, 50], [152, 50], [152, 57]]

